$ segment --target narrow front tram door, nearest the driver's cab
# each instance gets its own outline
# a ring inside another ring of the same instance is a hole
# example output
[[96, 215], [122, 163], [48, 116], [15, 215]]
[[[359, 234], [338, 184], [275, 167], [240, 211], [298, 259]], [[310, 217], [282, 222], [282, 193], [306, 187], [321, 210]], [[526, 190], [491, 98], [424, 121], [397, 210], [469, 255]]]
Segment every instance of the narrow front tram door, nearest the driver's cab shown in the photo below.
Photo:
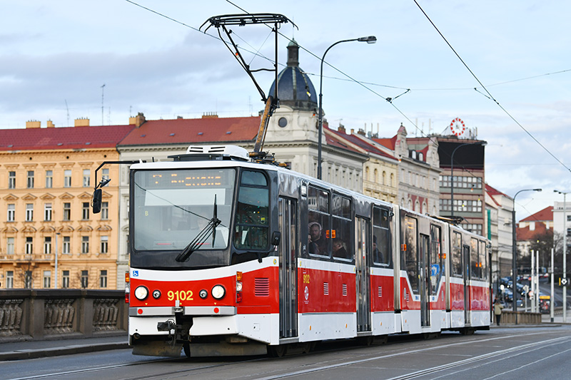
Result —
[[280, 197], [278, 202], [280, 255], [280, 338], [298, 336], [298, 242], [297, 202]]

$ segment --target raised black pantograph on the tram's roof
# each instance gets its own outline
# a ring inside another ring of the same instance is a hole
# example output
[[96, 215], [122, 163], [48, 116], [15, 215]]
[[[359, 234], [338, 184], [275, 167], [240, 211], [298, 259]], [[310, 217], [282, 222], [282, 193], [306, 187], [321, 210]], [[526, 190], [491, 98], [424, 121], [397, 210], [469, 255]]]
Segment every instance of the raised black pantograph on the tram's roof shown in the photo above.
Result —
[[[263, 141], [266, 139], [266, 131], [268, 130], [268, 123], [270, 120], [270, 116], [273, 114], [274, 111], [276, 111], [276, 108], [278, 108], [278, 106], [279, 106], [279, 102], [278, 102], [278, 29], [279, 29], [280, 24], [285, 24], [288, 22], [293, 24], [293, 21], [291, 21], [287, 17], [283, 16], [282, 14], [224, 14], [221, 16], [211, 17], [210, 19], [206, 20], [204, 22], [204, 24], [202, 24], [200, 27], [200, 29], [202, 29], [202, 27], [204, 25], [206, 25], [207, 23], [210, 23], [210, 25], [207, 26], [206, 29], [204, 29], [204, 33], [206, 33], [206, 31], [211, 26], [214, 26], [218, 30], [218, 36], [220, 36], [221, 41], [223, 41], [223, 43], [226, 45], [228, 50], [231, 51], [234, 58], [236, 58], [236, 61], [238, 61], [238, 63], [240, 63], [240, 66], [242, 66], [242, 68], [246, 71], [246, 73], [248, 73], [248, 76], [250, 76], [250, 78], [252, 79], [254, 86], [256, 86], [256, 88], [258, 89], [258, 92], [262, 96], [262, 101], [264, 103], [266, 103], [266, 106], [264, 107], [264, 110], [263, 110], [262, 118], [260, 120], [260, 128], [258, 129], [258, 136], [256, 137], [256, 144], [254, 145], [253, 152], [250, 153], [250, 157], [254, 158], [254, 159], [255, 158], [263, 159], [266, 156], [266, 153], [262, 152]], [[242, 54], [238, 50], [238, 45], [236, 45], [236, 43], [234, 42], [234, 40], [231, 36], [232, 30], [226, 28], [226, 26], [232, 26], [232, 25], [246, 26], [248, 24], [273, 24], [273, 27], [271, 27], [271, 29], [272, 29], [273, 34], [275, 36], [274, 46], [275, 46], [275, 57], [276, 57], [274, 59], [274, 62], [273, 62], [273, 68], [258, 68], [256, 70], [252, 70], [250, 68], [250, 65], [248, 65], [248, 63], [246, 63]], [[295, 24], [293, 24], [293, 26], [295, 26], [296, 28], [298, 27]], [[226, 40], [224, 38], [222, 38], [221, 29], [226, 34], [226, 37], [228, 37], [228, 40], [230, 41], [232, 46], [230, 46], [230, 44], [228, 44], [228, 42], [226, 42]], [[256, 82], [256, 78], [254, 78], [253, 73], [256, 73], [257, 71], [271, 71], [275, 74], [276, 86], [274, 88], [275, 91], [273, 93], [273, 96], [268, 95], [266, 97], [266, 94], [263, 92], [260, 85], [258, 85], [258, 82]]]

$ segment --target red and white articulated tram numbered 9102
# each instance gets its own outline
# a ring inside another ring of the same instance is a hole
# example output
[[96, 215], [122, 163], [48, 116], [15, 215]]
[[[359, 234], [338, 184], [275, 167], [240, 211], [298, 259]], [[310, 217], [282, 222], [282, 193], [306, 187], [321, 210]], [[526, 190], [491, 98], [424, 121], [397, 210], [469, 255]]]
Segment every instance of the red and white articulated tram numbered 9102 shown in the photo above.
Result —
[[489, 329], [484, 237], [237, 146], [171, 158], [129, 174], [133, 354], [282, 356]]

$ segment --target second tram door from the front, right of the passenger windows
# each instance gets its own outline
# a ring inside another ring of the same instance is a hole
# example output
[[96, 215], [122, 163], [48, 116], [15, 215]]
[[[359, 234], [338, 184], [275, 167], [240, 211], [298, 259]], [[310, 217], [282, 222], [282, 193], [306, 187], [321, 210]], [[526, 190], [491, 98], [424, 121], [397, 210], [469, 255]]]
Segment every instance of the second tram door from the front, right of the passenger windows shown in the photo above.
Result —
[[357, 331], [370, 331], [370, 221], [355, 217]]

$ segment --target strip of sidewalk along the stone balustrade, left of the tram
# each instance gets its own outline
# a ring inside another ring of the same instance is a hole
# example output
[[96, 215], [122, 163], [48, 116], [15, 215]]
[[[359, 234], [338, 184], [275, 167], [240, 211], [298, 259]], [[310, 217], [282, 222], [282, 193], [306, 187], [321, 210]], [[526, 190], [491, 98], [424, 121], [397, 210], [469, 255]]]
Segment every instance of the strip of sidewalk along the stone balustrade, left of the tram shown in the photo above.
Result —
[[118, 337], [40, 340], [0, 343], [0, 361], [128, 349], [127, 334]]

